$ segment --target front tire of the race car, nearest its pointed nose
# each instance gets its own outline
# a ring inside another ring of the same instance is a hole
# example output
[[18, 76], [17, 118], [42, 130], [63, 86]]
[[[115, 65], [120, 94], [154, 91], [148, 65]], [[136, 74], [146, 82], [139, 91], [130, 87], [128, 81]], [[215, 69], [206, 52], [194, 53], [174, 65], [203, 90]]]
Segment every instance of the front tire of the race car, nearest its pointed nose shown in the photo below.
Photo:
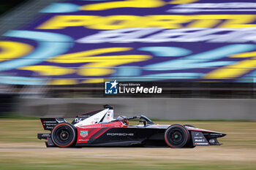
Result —
[[189, 131], [183, 125], [171, 125], [165, 131], [165, 142], [169, 147], [185, 147], [189, 142]]

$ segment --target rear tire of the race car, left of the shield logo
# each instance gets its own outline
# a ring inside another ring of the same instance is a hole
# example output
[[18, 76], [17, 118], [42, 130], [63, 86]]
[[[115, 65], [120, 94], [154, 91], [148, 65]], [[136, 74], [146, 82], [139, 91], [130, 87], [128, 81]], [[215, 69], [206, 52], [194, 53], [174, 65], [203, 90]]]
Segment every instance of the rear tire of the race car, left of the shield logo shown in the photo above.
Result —
[[78, 136], [75, 125], [70, 123], [59, 123], [54, 126], [51, 133], [53, 143], [58, 147], [72, 147], [75, 145]]

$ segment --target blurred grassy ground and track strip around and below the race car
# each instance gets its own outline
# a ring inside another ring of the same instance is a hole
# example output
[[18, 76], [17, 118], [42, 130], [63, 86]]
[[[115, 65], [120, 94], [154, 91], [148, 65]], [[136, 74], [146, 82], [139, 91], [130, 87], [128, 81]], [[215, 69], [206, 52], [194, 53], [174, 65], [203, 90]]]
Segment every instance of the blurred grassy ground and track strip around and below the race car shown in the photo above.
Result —
[[238, 121], [156, 121], [192, 124], [221, 131], [222, 146], [170, 148], [46, 148], [39, 120], [0, 119], [1, 170], [66, 169], [256, 169], [256, 123]]

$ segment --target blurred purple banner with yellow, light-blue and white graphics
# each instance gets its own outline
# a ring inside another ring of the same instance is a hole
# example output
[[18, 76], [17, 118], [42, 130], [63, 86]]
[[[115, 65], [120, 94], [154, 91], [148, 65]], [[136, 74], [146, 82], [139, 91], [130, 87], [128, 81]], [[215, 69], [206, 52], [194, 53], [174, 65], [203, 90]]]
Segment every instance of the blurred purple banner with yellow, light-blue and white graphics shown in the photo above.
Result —
[[65, 1], [0, 42], [0, 83], [253, 82], [256, 3]]

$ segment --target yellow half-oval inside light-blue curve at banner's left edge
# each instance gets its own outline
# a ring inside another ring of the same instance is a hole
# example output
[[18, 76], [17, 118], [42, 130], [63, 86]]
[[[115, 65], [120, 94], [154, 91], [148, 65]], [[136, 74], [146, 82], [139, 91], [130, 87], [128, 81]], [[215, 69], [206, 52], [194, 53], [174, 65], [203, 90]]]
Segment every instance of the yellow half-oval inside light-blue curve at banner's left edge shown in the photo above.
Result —
[[0, 42], [0, 61], [9, 61], [29, 54], [34, 47], [21, 42]]

